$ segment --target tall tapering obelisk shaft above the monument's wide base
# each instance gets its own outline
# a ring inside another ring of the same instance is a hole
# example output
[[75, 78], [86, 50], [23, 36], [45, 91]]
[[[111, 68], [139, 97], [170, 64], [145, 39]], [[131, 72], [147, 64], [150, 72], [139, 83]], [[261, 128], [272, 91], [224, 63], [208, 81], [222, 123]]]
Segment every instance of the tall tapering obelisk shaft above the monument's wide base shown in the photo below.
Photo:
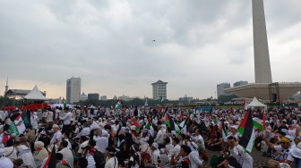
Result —
[[255, 83], [271, 83], [269, 45], [262, 0], [252, 0]]

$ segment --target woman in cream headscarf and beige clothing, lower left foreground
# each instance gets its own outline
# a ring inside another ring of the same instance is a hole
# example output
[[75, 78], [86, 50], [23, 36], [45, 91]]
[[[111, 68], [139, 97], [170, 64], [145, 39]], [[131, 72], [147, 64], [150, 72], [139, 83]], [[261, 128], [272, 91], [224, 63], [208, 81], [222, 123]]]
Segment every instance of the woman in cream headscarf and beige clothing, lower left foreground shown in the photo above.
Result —
[[48, 156], [48, 152], [44, 147], [44, 143], [41, 141], [34, 143], [35, 151], [33, 152], [33, 158], [36, 162], [37, 167], [40, 167], [44, 159]]

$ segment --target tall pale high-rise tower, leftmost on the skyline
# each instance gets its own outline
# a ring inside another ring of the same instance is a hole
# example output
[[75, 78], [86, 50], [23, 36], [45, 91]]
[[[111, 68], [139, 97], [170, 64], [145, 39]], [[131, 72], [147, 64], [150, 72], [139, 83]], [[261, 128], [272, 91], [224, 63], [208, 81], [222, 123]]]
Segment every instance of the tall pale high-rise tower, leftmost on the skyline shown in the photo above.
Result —
[[81, 78], [68, 79], [66, 82], [66, 101], [67, 104], [79, 102], [81, 99]]

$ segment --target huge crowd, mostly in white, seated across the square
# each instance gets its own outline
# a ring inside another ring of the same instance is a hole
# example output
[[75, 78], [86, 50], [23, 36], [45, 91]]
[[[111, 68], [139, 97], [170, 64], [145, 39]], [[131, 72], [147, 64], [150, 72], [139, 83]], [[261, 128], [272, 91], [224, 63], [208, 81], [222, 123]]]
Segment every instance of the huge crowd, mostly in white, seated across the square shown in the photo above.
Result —
[[[21, 113], [30, 125], [24, 132], [11, 132]], [[245, 113], [172, 106], [0, 111], [0, 168], [197, 168], [204, 163], [251, 168], [254, 159], [238, 131]], [[254, 150], [271, 158], [268, 166], [301, 167], [301, 108], [250, 113], [265, 122], [263, 129], [254, 128]], [[210, 158], [208, 150], [217, 155]]]

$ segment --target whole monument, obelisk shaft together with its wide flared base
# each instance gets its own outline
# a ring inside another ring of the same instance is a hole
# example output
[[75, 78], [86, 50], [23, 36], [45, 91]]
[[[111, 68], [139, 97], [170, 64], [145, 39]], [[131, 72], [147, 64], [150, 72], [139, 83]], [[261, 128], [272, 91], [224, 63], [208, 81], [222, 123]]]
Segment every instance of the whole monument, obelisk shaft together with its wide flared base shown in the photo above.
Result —
[[[238, 97], [261, 97], [271, 99], [269, 85], [271, 80], [271, 63], [267, 30], [265, 25], [263, 0], [252, 0], [253, 42], [254, 42], [254, 70], [255, 82], [233, 88], [225, 88], [226, 93], [233, 93]], [[282, 99], [291, 97], [301, 89], [300, 82], [279, 83]]]

